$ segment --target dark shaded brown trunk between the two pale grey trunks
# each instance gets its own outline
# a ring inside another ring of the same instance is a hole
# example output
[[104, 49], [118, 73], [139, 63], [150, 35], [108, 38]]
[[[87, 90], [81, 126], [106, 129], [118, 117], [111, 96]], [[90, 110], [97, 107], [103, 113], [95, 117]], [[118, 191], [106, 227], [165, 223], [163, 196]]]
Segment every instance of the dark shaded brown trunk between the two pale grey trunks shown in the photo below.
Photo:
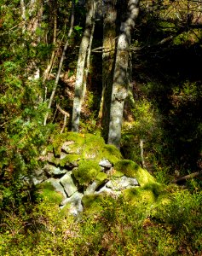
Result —
[[101, 119], [102, 136], [107, 139], [109, 128], [109, 111], [113, 90], [113, 67], [116, 47], [117, 0], [104, 3], [103, 13], [103, 51], [102, 51], [102, 92], [99, 119]]

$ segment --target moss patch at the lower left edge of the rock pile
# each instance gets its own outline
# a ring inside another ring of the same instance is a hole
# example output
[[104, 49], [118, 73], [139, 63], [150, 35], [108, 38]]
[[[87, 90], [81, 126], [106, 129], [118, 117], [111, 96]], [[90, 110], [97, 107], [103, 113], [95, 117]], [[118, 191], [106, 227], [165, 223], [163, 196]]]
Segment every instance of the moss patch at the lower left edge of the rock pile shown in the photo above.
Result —
[[46, 199], [49, 203], [54, 203], [55, 205], [61, 204], [63, 196], [60, 192], [55, 191], [51, 183], [40, 183], [37, 185], [37, 189], [42, 199]]

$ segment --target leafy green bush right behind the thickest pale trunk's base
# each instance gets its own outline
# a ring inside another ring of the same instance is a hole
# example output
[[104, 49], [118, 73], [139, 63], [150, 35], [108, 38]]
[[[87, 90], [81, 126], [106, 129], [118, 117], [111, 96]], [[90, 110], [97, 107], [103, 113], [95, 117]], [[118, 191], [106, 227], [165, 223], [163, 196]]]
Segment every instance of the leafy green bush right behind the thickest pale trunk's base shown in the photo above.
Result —
[[124, 122], [121, 146], [124, 158], [141, 164], [140, 141], [143, 140], [144, 159], [155, 164], [153, 153], [162, 154], [163, 131], [159, 122], [160, 115], [151, 102], [142, 99], [132, 109], [134, 121]]

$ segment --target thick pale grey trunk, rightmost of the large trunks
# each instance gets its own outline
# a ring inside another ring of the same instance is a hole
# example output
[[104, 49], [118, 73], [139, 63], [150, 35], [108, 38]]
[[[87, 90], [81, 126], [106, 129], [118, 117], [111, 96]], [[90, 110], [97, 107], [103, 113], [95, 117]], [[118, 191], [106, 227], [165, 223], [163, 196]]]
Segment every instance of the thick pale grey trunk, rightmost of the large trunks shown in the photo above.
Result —
[[128, 93], [130, 38], [139, 13], [139, 0], [128, 0], [126, 19], [121, 22], [116, 63], [113, 75], [113, 94], [110, 109], [108, 143], [120, 147], [124, 100]]

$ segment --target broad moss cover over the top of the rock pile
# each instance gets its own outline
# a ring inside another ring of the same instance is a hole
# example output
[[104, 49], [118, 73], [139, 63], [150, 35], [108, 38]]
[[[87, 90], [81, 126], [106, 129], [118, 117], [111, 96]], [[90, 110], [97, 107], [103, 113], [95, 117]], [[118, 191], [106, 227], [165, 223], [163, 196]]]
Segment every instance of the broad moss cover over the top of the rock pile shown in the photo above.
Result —
[[[54, 152], [55, 158], [60, 158], [63, 151], [66, 154], [74, 155], [73, 158], [75, 160], [77, 160], [75, 156], [77, 154], [80, 160], [95, 160], [99, 162], [102, 159], [107, 159], [112, 164], [123, 159], [119, 150], [113, 145], [106, 145], [102, 137], [76, 132], [66, 132], [52, 137], [46, 151]], [[66, 160], [70, 161], [68, 158]], [[64, 159], [53, 159], [51, 162], [57, 166], [65, 166]]]

